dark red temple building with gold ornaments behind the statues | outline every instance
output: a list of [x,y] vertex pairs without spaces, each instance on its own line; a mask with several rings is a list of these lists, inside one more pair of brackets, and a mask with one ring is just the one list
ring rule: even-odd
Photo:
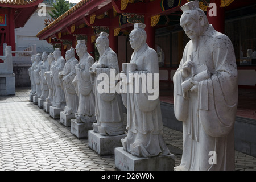
[[[175,121],[175,116],[170,110],[173,109],[172,76],[189,41],[180,26],[180,7],[188,1],[190,0],[81,0],[38,32],[37,36],[40,40],[58,44],[63,56],[69,48],[75,48],[77,40],[84,39],[88,52],[98,60],[95,40],[101,31],[105,31],[109,34],[110,47],[117,53],[119,68],[122,70],[122,63],[129,63],[133,53],[129,43],[133,24],[146,24],[147,44],[154,48],[159,56],[163,123],[172,129],[182,130],[181,122]],[[233,43],[240,88],[237,115],[249,119],[246,121],[254,121],[255,128],[256,1],[199,1],[209,23],[217,31],[229,36]],[[242,108],[247,114],[242,112]],[[238,117],[236,121],[239,119],[241,118]],[[244,127],[241,123],[237,126]],[[256,155],[256,142],[250,145],[250,141],[246,141],[247,146],[244,147],[243,141],[245,139],[236,135],[237,150],[243,146],[240,151],[246,150],[243,152]]]

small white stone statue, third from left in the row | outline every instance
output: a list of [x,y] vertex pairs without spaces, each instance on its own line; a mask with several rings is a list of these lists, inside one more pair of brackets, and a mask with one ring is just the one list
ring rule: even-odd
[[41,77],[41,90],[42,90],[40,99],[43,101],[46,101],[46,98],[48,97],[48,94],[49,94],[49,88],[46,82],[46,78],[44,77],[44,73],[49,71],[50,69],[50,65],[48,63],[47,57],[48,57],[48,53],[43,52],[42,54],[43,64],[41,65],[41,71],[39,72],[39,75]]

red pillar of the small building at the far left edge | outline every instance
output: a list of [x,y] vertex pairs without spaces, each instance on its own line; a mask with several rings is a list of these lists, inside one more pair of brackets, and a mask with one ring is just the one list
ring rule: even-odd
[[[9,27],[9,32],[7,35],[9,35],[9,42],[7,42],[7,46],[11,46],[11,50],[15,51],[15,24],[14,24],[14,9],[10,8],[9,9],[9,14],[8,14],[8,24],[7,26]],[[15,56],[15,53],[13,53],[13,56]]]

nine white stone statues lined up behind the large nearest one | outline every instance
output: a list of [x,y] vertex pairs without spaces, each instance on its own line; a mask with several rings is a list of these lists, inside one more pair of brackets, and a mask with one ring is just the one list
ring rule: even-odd
[[[137,67],[137,71],[133,73],[157,74],[157,54],[154,49],[147,46],[144,28],[144,24],[134,24],[134,30],[130,35],[130,42],[134,48],[131,63],[135,63]],[[66,52],[65,59],[58,48],[48,56],[46,52],[42,57],[39,54],[32,56],[31,93],[35,92],[35,95],[46,102],[51,102],[54,107],[63,107],[65,114],[75,114],[77,122],[93,122],[93,131],[96,133],[121,135],[125,133],[121,97],[117,92],[98,92],[102,82],[99,78],[102,74],[111,77],[114,70],[114,77],[118,75],[117,55],[109,47],[108,34],[105,32],[101,32],[97,38],[96,47],[100,53],[100,58],[96,62],[87,52],[84,40],[78,40],[76,46],[80,61],[75,58],[74,48]],[[121,77],[126,74],[122,71]],[[122,82],[123,85],[131,86],[123,80]],[[114,87],[117,83],[115,80]],[[113,84],[109,81],[107,85],[111,89]],[[128,134],[122,139],[123,149],[135,156],[168,155],[169,150],[162,137],[159,97],[156,100],[148,100],[147,93],[122,93],[122,98],[128,113]]]

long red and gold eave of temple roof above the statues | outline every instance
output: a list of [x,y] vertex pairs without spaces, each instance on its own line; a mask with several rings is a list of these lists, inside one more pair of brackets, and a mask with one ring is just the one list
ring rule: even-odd
[[[161,5],[165,1],[167,0],[143,0],[139,2],[132,0],[81,0],[77,5],[59,16],[59,18],[49,23],[43,30],[38,32],[36,36],[38,36],[40,40],[44,40],[55,37],[59,32],[64,33],[68,31],[69,34],[79,34],[78,32],[81,31],[76,27],[82,22],[85,23],[89,29],[93,28],[95,34],[95,27],[121,28],[123,31],[132,26],[130,22],[126,24],[120,24],[119,22],[119,17],[125,16],[127,13],[151,18],[151,26],[155,26],[160,16],[179,11],[180,6],[187,2],[187,0],[175,0],[172,7],[163,10]],[[127,3],[127,5],[122,7],[122,3]],[[104,18],[102,14],[108,13],[109,10],[113,10],[113,15],[111,18]],[[116,33],[118,32],[117,30]],[[87,28],[86,32],[84,31],[82,34],[90,35]]]

